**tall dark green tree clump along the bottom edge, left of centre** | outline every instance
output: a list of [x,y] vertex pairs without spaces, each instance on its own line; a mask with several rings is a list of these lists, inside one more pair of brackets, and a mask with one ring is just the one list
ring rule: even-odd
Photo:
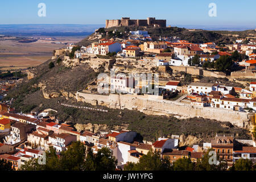
[[20,167],[24,171],[113,171],[117,160],[108,148],[102,148],[93,154],[86,150],[81,142],[73,142],[67,151],[56,154],[53,147],[46,152],[46,164],[38,164],[38,159],[31,159]]

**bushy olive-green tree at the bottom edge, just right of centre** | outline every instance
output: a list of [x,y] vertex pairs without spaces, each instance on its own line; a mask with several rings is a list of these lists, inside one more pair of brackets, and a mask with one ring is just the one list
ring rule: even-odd
[[166,171],[171,170],[171,163],[168,157],[160,159],[160,155],[150,150],[147,155],[139,158],[138,163],[127,163],[124,170],[132,171]]

